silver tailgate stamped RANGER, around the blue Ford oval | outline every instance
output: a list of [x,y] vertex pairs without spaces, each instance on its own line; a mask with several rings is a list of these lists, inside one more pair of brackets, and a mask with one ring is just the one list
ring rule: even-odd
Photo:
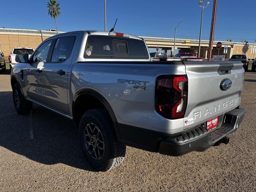
[[[206,122],[240,105],[244,69],[240,61],[183,62],[188,76],[184,129]],[[231,80],[228,90],[222,83]]]

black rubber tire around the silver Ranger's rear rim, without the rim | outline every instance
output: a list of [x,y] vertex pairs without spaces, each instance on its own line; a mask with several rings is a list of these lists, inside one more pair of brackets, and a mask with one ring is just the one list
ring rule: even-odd
[[[88,124],[95,124],[104,139],[104,152],[102,158],[99,160],[93,158],[86,148],[84,132]],[[98,108],[86,111],[80,120],[78,133],[84,156],[95,170],[111,170],[119,166],[124,160],[126,146],[118,142],[112,121],[105,109]]]

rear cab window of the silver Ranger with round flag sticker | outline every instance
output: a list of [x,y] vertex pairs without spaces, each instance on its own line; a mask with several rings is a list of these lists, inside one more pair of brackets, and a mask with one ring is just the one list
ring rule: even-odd
[[148,49],[143,40],[89,35],[84,58],[98,59],[148,59]]

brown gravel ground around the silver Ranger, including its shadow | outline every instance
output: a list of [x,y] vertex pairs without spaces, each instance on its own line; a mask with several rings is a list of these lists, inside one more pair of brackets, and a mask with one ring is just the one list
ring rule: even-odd
[[256,73],[246,73],[247,112],[228,145],[180,157],[128,147],[109,172],[86,162],[72,120],[36,105],[18,115],[8,73],[0,72],[0,191],[256,191]]

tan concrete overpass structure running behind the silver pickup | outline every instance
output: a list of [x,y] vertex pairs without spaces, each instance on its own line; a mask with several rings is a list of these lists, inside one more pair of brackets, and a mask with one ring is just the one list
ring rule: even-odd
[[[63,33],[63,32],[59,32]],[[46,38],[56,35],[56,32],[47,30],[29,30],[29,29],[10,29],[0,28],[0,51],[4,52],[5,57],[8,57],[14,47],[31,47],[36,48]],[[162,48],[162,51],[167,52],[174,46],[174,38],[161,38],[161,37],[146,37],[142,36],[146,41],[149,48]],[[218,50],[214,41],[212,55],[217,55]],[[222,48],[220,49],[220,55],[224,55],[224,46],[228,46],[228,53],[225,58],[230,58],[232,54],[246,54],[247,58],[254,58],[254,54],[251,54],[252,46],[256,44],[243,44],[241,42],[222,42]],[[199,40],[193,39],[176,39],[176,48],[179,52],[192,52],[198,50]],[[209,41],[201,40],[201,53],[200,57],[207,58]]]

